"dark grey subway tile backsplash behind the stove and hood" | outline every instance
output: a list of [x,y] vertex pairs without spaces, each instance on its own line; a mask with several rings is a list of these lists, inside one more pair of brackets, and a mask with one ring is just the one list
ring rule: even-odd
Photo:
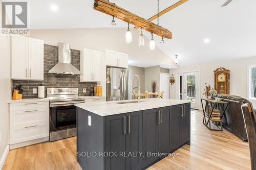
[[[33,94],[33,88],[43,85],[45,88],[78,88],[79,96],[90,95],[90,90],[93,89],[96,83],[80,82],[79,76],[63,77],[58,75],[48,75],[48,71],[58,63],[58,46],[44,44],[44,81],[31,81],[31,80],[13,80],[12,86],[22,84],[24,86],[23,99],[37,98],[37,94]],[[71,50],[71,64],[80,70],[80,51]],[[83,93],[83,88],[87,92]],[[45,89],[46,96],[46,89]]]

